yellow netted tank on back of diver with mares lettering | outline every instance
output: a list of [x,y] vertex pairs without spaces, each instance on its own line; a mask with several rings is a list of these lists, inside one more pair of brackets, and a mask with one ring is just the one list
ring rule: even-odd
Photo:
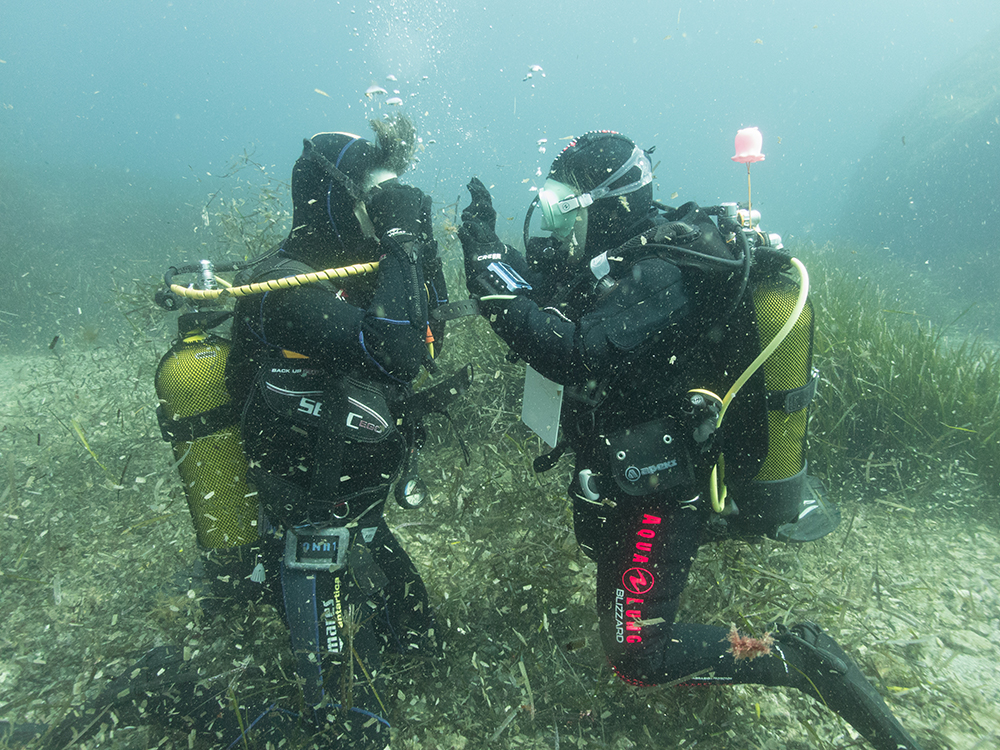
[[156,370],[157,414],[184,483],[198,543],[235,547],[257,539],[257,493],[247,483],[239,413],[226,390],[228,340],[193,331]]

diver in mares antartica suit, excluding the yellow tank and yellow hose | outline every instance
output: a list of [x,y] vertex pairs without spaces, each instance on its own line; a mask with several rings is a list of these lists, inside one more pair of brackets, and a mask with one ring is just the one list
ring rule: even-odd
[[304,702],[333,743],[324,746],[365,749],[389,741],[382,653],[437,650],[426,589],[383,508],[394,482],[397,496],[414,486],[422,415],[407,399],[443,340],[430,309],[446,300],[431,200],[398,180],[415,129],[404,117],[371,124],[377,143],[348,133],[305,141],[291,234],[237,279],[378,260],[377,275],[237,303],[226,380],[243,405],[264,520],[257,543],[218,555],[230,595],[266,595],[280,580]]

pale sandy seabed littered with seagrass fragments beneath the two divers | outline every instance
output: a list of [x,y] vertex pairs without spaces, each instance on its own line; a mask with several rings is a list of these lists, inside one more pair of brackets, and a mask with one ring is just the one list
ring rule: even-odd
[[[287,680],[276,612],[210,615],[177,583],[198,552],[154,415],[166,340],[64,346],[0,360],[0,719],[56,722],[160,643],[228,675],[234,693],[254,687],[239,683],[247,659]],[[434,422],[432,499],[388,511],[444,646],[433,663],[387,665],[393,748],[865,747],[790,690],[639,690],[611,676],[593,564],[563,492],[568,464],[533,473],[541,446],[508,406],[510,380],[480,375],[459,410],[471,463]],[[927,750],[1000,746],[996,499],[959,466],[933,489],[904,489],[883,468],[833,490],[843,522],[819,542],[705,545],[681,617],[761,631],[815,620]],[[125,726],[87,746],[189,743],[208,746]]]

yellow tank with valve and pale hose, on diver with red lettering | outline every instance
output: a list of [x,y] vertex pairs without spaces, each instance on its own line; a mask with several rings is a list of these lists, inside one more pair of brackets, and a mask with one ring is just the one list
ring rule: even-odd
[[[734,460],[720,456],[712,472],[712,507],[725,516],[725,522],[716,525],[724,527],[727,536],[819,539],[836,528],[840,511],[827,499],[823,483],[808,474],[805,457],[809,404],[819,382],[812,366],[815,321],[809,274],[801,261],[784,251],[779,235],[760,230],[757,212],[723,204],[717,215],[727,242],[744,248],[744,283],[750,291],[746,306],[752,308],[747,312],[758,352],[722,399],[719,424],[755,373],[762,371],[763,382],[758,380],[742,399],[741,416],[730,432],[737,441],[731,446]],[[737,347],[748,340],[739,338],[745,332],[736,335]],[[760,450],[744,449],[747,441]]]

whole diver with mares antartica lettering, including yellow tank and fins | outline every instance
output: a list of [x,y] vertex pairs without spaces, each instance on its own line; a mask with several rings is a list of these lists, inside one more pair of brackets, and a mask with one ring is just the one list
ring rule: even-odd
[[[420,504],[423,418],[443,412],[472,373],[411,388],[440,350],[435,309],[447,293],[430,198],[398,180],[415,128],[405,117],[371,124],[377,143],[339,132],[305,140],[291,233],[233,286],[215,289],[205,264],[201,290],[170,287],[238,301],[232,313],[181,316],[157,371],[161,428],[206,577],[219,598],[283,611],[295,679],[234,705],[225,680],[157,647],[47,747],[93,735],[114,713],[116,725],[164,724],[213,747],[381,750],[391,705],[383,655],[439,653],[427,591],[383,509],[393,486],[401,505]],[[206,333],[230,316],[231,344]]]

